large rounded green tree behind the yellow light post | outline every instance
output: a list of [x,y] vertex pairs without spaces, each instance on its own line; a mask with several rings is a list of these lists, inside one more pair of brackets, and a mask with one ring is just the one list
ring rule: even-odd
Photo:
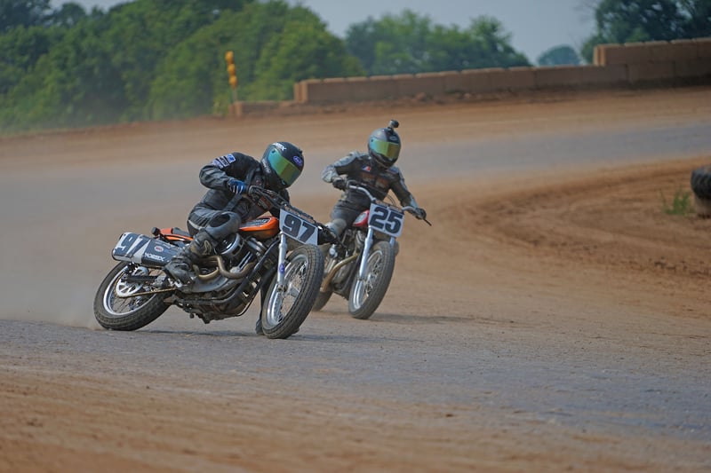
[[282,1],[249,4],[221,14],[172,48],[151,84],[149,116],[225,111],[230,100],[225,51],[235,53],[243,100],[290,99],[293,83],[310,77],[363,75],[342,40],[313,12]]

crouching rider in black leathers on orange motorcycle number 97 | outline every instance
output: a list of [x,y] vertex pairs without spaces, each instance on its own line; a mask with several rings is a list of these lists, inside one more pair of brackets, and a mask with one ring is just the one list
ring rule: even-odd
[[214,159],[200,169],[200,182],[207,193],[188,215],[188,231],[193,240],[165,265],[175,280],[188,283],[193,275],[192,265],[214,253],[218,243],[239,230],[246,220],[271,212],[278,217],[278,209],[247,191],[252,185],[279,193],[289,201],[286,188],[294,183],[304,169],[304,154],[299,146],[285,141],[267,147],[261,162],[242,153],[230,153]]

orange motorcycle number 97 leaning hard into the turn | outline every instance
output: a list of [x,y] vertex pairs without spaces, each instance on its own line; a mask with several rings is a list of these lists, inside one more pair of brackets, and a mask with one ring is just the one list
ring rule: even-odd
[[[179,228],[154,228],[152,235],[123,233],[108,272],[94,298],[101,327],[137,330],[175,305],[204,323],[239,317],[260,291],[260,323],[268,338],[288,338],[311,311],[323,280],[319,235],[332,233],[277,193],[251,186],[249,194],[279,208],[279,217],[242,224],[217,245],[215,255],[193,265],[195,278],[173,280],[163,271],[172,256],[192,240]],[[295,248],[294,248],[295,247]]]

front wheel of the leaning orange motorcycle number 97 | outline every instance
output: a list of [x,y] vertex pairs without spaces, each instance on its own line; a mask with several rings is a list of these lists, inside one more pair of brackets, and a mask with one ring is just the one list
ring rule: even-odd
[[296,248],[286,261],[284,288],[278,288],[275,274],[261,308],[261,327],[267,338],[288,338],[299,331],[324,279],[324,255],[314,245]]

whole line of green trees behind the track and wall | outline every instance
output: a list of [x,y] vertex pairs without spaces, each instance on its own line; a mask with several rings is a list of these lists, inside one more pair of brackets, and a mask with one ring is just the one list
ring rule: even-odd
[[[602,0],[597,30],[539,64],[576,64],[598,43],[711,35],[711,0]],[[303,79],[530,66],[491,17],[467,28],[409,10],[332,35],[282,0],[135,0],[104,12],[49,0],[0,0],[0,130],[223,114],[234,51],[242,100],[292,98]],[[588,54],[589,53],[589,54]]]

